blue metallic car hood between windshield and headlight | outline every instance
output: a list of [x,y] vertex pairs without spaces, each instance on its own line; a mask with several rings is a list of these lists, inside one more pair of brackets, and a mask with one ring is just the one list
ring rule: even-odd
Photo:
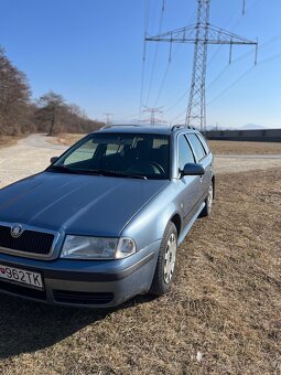
[[43,172],[0,190],[0,222],[119,236],[169,181]]

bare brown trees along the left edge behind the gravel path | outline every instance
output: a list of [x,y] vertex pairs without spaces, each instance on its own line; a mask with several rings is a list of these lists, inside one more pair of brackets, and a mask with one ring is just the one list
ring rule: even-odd
[[89,119],[75,104],[54,92],[31,99],[26,75],[19,71],[0,47],[0,136],[45,132],[89,132],[104,122]]

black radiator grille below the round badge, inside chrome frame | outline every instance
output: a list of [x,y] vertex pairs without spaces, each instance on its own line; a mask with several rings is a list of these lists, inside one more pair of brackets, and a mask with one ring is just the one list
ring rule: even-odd
[[14,238],[9,226],[0,225],[0,248],[47,255],[52,249],[54,237],[51,233],[24,229],[20,237]]

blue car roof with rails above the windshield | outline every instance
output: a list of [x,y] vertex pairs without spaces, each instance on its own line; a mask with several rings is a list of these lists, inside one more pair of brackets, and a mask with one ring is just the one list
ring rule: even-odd
[[187,132],[198,132],[196,129],[191,129],[186,126],[175,125],[173,127],[170,126],[143,126],[143,125],[111,125],[100,128],[96,133],[105,132],[105,133],[152,133],[152,135],[166,135],[170,136],[171,133],[175,133],[179,131],[187,131]]

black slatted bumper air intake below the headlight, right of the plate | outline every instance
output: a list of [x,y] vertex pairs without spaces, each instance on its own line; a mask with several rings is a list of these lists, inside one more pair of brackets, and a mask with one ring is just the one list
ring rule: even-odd
[[54,290],[54,300],[61,303],[107,304],[112,301],[111,292],[80,292],[71,290]]

